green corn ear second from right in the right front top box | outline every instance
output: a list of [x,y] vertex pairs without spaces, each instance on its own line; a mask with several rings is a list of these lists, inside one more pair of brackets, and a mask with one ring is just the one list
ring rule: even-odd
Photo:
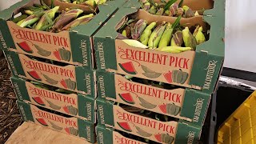
[[194,38],[194,36],[190,33],[190,29],[186,27],[184,30],[182,30],[183,34],[183,41],[185,43],[186,47],[191,47],[193,50],[195,50],[197,46],[197,41]]

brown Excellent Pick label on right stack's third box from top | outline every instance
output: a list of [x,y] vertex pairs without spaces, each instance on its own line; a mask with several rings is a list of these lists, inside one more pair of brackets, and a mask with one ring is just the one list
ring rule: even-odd
[[113,106],[114,128],[155,142],[174,142],[178,122],[161,122]]

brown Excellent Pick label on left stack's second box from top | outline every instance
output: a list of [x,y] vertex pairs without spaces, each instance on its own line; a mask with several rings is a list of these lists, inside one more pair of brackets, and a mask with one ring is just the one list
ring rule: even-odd
[[75,66],[56,66],[19,54],[26,78],[66,90],[77,90]]

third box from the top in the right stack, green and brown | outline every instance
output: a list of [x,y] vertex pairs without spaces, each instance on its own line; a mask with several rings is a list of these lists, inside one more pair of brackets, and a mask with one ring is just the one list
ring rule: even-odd
[[108,126],[154,142],[195,143],[200,138],[202,126],[183,120],[162,122],[138,114],[132,114],[114,105],[97,99],[98,125]]

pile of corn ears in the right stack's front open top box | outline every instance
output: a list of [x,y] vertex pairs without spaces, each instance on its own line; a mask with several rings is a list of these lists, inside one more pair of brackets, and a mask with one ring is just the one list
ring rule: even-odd
[[[118,38],[123,39],[130,46],[160,50],[169,53],[181,53],[195,50],[196,46],[206,42],[202,26],[183,27],[179,25],[181,16],[173,24],[162,22],[148,23],[144,19],[133,20],[125,18]],[[192,34],[193,33],[193,34]]]

